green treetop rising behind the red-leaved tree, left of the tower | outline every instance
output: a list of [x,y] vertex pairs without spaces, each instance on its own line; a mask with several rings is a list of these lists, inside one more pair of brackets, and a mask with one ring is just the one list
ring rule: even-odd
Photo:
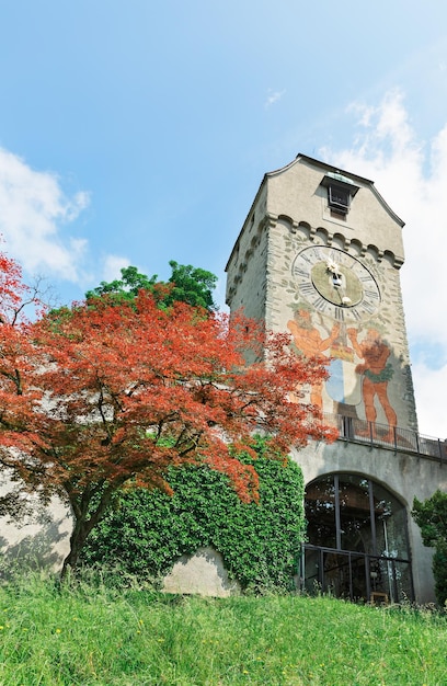
[[101,282],[96,288],[85,294],[85,298],[92,300],[107,295],[119,305],[123,301],[133,301],[142,289],[154,295],[163,307],[180,301],[193,307],[203,307],[209,311],[216,309],[213,290],[216,287],[217,276],[191,264],[177,264],[174,260],[171,260],[169,264],[172,273],[165,284],[158,281],[157,274],[149,277],[138,272],[136,266],[127,266],[121,271],[122,278],[108,283]]

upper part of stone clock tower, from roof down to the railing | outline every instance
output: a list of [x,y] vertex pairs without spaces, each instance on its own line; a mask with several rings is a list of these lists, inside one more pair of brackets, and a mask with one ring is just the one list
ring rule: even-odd
[[[264,176],[227,302],[331,358],[323,412],[416,431],[399,271],[403,221],[374,183],[299,155]],[[261,275],[262,274],[262,275]]]

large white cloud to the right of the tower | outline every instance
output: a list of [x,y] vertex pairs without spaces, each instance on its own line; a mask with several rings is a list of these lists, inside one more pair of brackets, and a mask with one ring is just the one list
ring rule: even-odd
[[[437,345],[447,357],[447,124],[424,142],[411,126],[401,92],[377,107],[355,103],[358,133],[348,150],[323,150],[322,159],[371,179],[405,221],[402,288],[410,341],[417,353]],[[422,433],[447,435],[447,366],[415,355],[413,378]]]

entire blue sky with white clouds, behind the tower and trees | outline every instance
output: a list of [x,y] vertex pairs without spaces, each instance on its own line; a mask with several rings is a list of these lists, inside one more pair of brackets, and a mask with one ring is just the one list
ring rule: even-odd
[[69,302],[135,264],[219,277],[266,171],[373,179],[406,222],[422,433],[445,436],[447,5],[5,0],[0,232]]

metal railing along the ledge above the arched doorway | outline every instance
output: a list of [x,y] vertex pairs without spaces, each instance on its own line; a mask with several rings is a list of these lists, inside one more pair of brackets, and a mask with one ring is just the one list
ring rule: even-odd
[[447,464],[447,439],[442,441],[433,436],[424,436],[410,428],[377,424],[342,414],[324,413],[323,418],[326,424],[337,428],[339,441],[388,448],[396,453],[412,453]]

